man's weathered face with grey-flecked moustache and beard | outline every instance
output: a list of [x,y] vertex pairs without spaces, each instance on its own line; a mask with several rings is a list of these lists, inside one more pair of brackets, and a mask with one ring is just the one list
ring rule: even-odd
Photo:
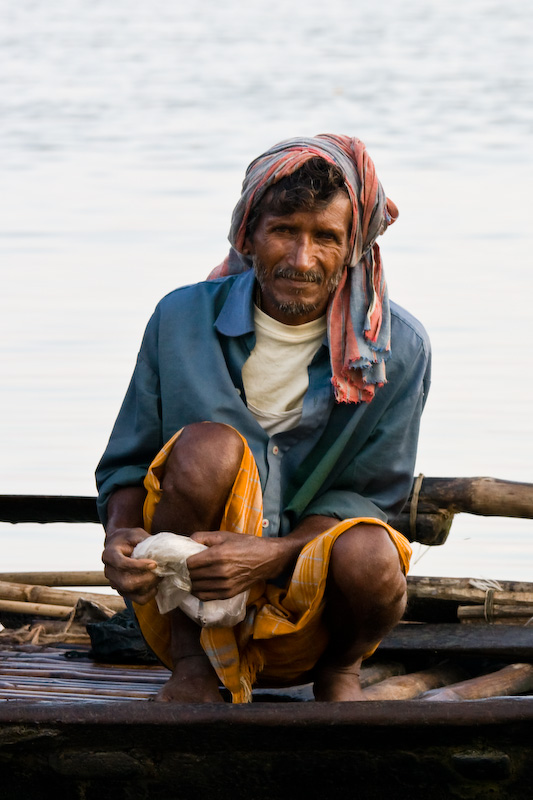
[[261,215],[245,247],[253,257],[266,314],[286,325],[301,325],[325,313],[348,259],[351,221],[351,203],[343,191],[323,208]]

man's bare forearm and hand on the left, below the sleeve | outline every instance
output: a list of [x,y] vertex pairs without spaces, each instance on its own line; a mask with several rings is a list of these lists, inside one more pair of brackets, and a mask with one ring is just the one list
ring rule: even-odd
[[147,603],[157,592],[159,578],[154,574],[155,561],[134,559],[135,545],[150,534],[143,528],[142,486],[126,486],[111,495],[102,561],[113,588],[137,603]]

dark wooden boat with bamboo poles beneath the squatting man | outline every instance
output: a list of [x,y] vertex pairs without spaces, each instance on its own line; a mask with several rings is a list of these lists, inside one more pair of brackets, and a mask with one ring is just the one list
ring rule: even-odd
[[[395,522],[417,540],[444,541],[459,510],[533,518],[533,485],[418,484]],[[0,519],[95,521],[94,498],[4,497]],[[92,573],[0,575],[0,595],[13,595],[9,584],[26,598],[6,602],[33,603],[23,619],[34,640],[0,634],[2,800],[531,797],[533,584],[410,578],[406,620],[364,667],[372,702],[309,702],[310,687],[294,687],[257,690],[248,706],[197,706],[146,702],[163,667],[90,656],[87,601],[63,586],[100,583]],[[93,613],[114,611],[92,594]],[[59,618],[37,635],[54,604]],[[0,609],[0,619],[16,627],[19,613]]]

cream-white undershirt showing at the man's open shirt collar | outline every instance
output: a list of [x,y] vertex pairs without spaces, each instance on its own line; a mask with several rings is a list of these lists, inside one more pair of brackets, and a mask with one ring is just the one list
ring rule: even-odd
[[309,386],[307,368],[327,328],[326,316],[284,325],[254,307],[255,347],[242,368],[246,403],[270,436],[294,428]]

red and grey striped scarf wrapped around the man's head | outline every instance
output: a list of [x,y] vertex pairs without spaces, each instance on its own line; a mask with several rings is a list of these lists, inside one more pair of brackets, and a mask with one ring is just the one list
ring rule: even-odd
[[398,209],[385,196],[360,139],[333,134],[287,139],[252,161],[233,211],[231,250],[209,279],[252,267],[252,259],[242,252],[251,209],[270,186],[317,156],[342,170],[352,203],[347,269],[328,305],[331,380],[338,403],[368,403],[386,382],[390,355],[389,299],[376,239],[396,220]]

